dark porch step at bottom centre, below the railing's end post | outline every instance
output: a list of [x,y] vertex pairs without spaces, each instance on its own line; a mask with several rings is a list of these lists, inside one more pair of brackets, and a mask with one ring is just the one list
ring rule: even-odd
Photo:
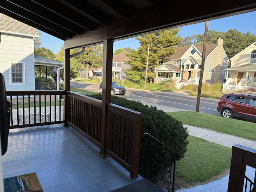
[[149,180],[143,178],[139,181],[133,182],[132,184],[126,185],[122,188],[113,190],[112,192],[164,192],[166,190],[162,190],[158,188],[158,186],[154,185]]

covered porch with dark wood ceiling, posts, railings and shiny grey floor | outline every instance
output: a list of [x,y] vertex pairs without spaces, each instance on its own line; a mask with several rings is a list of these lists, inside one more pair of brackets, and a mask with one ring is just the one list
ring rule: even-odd
[[[5,159],[6,165],[4,166],[7,167],[4,170],[4,175],[10,176],[12,174],[13,176],[14,171],[17,171],[19,174],[19,171],[28,173],[30,170],[32,171],[32,168],[33,170],[34,168],[40,169],[42,172],[42,174],[39,174],[40,178],[42,178],[42,182],[46,184],[46,188],[49,191],[62,191],[54,188],[57,186],[67,192],[84,191],[85,188],[101,191],[100,187],[103,186],[106,186],[108,190],[112,190],[114,189],[112,182],[117,177],[126,177],[127,172],[125,170],[129,172],[130,180],[139,178],[138,162],[142,114],[111,103],[113,43],[114,41],[129,37],[256,10],[256,4],[253,1],[234,1],[232,4],[223,4],[223,1],[217,0],[215,3],[222,6],[212,6],[206,10],[205,5],[201,2],[170,1],[159,3],[153,0],[128,0],[114,3],[106,0],[83,2],[75,0],[54,0],[52,2],[38,0],[25,2],[17,0],[1,1],[0,12],[3,14],[64,40],[65,61],[63,91],[7,91],[7,96],[13,99],[11,99],[11,106],[19,102],[20,105],[17,105],[15,109],[11,109],[12,119],[10,128],[12,130],[10,130],[10,135],[18,139],[15,141],[10,139],[9,141],[15,147],[14,149],[8,149],[10,156]],[[186,14],[180,15],[180,8],[187,10]],[[177,16],[170,17],[170,10],[174,10],[173,14]],[[194,10],[202,11],[195,12]],[[70,49],[97,44],[103,44],[104,47],[102,101],[70,92]],[[61,99],[59,100],[58,98]],[[26,99],[28,99],[28,107],[25,107],[24,104]],[[36,105],[36,102],[30,102],[33,99],[38,99],[39,106]],[[42,104],[41,101],[47,99],[50,101],[49,105]],[[31,107],[32,111],[30,110]],[[28,114],[25,113],[25,108],[28,108]],[[49,113],[47,113],[47,108],[50,109]],[[14,110],[17,112],[15,115]],[[63,116],[58,116],[57,112]],[[34,114],[34,116],[31,116],[31,114]],[[46,115],[48,114],[50,120],[46,121]],[[22,123],[18,120],[20,116],[23,117],[21,120]],[[16,118],[16,123],[14,123],[14,117]],[[32,121],[33,118],[34,121]],[[37,119],[38,122],[36,121]],[[103,158],[95,162],[93,159],[90,159],[90,164],[95,163],[93,166],[100,169],[98,171],[100,173],[93,173],[96,170],[92,169],[92,167],[90,167],[91,169],[88,168],[85,170],[80,169],[81,166],[72,166],[78,160],[83,160],[84,164],[86,164],[88,159],[84,156],[84,153],[92,148],[88,146],[76,146],[76,148],[81,149],[84,153],[80,153],[80,150],[74,150],[74,145],[82,144],[84,140],[78,136],[75,138],[78,141],[80,140],[80,142],[72,142],[71,135],[76,133],[71,129],[67,134],[66,131],[69,128],[68,130],[58,129],[57,132],[57,128],[53,126],[54,124],[65,124],[66,126],[72,127],[72,129],[76,130],[98,147],[99,154]],[[47,126],[50,132],[44,134],[40,132],[40,129],[33,131],[34,129],[30,127],[34,126]],[[16,128],[18,128],[18,131],[16,131]],[[28,129],[31,129],[31,132],[26,131]],[[41,129],[43,130],[44,128]],[[38,132],[39,134],[37,134]],[[19,133],[22,134],[20,135]],[[63,136],[61,141],[55,140],[55,137],[60,138],[60,135]],[[39,140],[37,140],[37,136]],[[40,145],[35,148],[34,145],[30,145],[30,143],[35,144],[30,139],[36,140]],[[18,153],[16,148],[18,148],[20,142],[24,142],[25,146],[27,145],[33,150]],[[61,146],[63,145],[68,146],[68,148],[62,148]],[[42,150],[43,146],[46,146],[44,150]],[[55,146],[59,146],[59,148],[54,148]],[[22,147],[20,150],[22,150]],[[8,153],[5,154],[6,157]],[[38,157],[42,153],[46,153],[43,154],[44,156],[41,156],[41,159],[43,161],[45,160],[44,166],[31,160],[35,153]],[[16,156],[16,154],[20,156]],[[72,158],[70,158],[71,154],[74,155]],[[47,156],[50,158],[48,162],[47,158],[44,158]],[[55,158],[52,156],[55,156]],[[110,161],[104,158],[106,156],[115,160],[125,170],[112,166],[112,162],[107,166],[108,168],[104,169],[106,165],[103,166],[102,161]],[[62,164],[64,158],[65,163]],[[20,159],[21,162],[17,159]],[[31,164],[29,163],[29,166],[24,166],[26,161]],[[68,163],[66,164],[66,162]],[[55,169],[53,165],[58,169]],[[244,165],[240,164],[239,166],[242,167]],[[111,171],[116,172],[116,174],[110,172],[112,177],[104,173],[110,171],[110,167]],[[64,174],[65,170],[68,175]],[[48,174],[50,171],[54,173],[52,174],[52,178]],[[86,176],[85,173],[90,173],[90,176]],[[234,176],[240,176],[242,173],[235,172]],[[55,176],[57,176],[57,179]],[[102,178],[103,176],[106,176],[106,178]],[[65,181],[68,185],[64,187],[58,185],[58,183],[65,180],[65,177],[68,178]],[[243,177],[244,175],[239,177],[239,182],[232,180],[230,185],[234,186],[235,189],[240,189],[243,183],[241,183],[241,178]],[[49,180],[44,180],[44,178]],[[77,181],[79,178],[80,180]],[[54,182],[51,182],[50,179],[53,179]],[[88,185],[87,180],[91,182],[91,185]],[[124,180],[116,180],[116,182],[120,181],[121,184],[124,183]],[[73,183],[77,184],[78,188],[73,190]],[[51,188],[54,188],[54,190],[51,190]],[[234,192],[236,190],[230,191]]]

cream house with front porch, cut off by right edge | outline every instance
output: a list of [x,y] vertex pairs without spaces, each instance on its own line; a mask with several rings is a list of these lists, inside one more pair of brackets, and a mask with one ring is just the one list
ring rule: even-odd
[[230,58],[223,91],[256,90],[256,42]]

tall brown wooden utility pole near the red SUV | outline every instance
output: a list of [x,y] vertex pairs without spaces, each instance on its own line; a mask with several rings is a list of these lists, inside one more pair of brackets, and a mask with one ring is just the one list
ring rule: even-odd
[[204,61],[205,61],[205,55],[206,55],[205,51],[206,51],[206,42],[207,42],[207,33],[208,33],[208,23],[209,23],[209,21],[205,22],[205,29],[204,29],[204,44],[203,44],[202,64],[201,64],[200,78],[199,78],[199,84],[198,84],[198,93],[197,93],[197,100],[196,100],[196,112],[199,112],[199,106],[200,106],[202,81],[203,81],[203,75],[204,75]]

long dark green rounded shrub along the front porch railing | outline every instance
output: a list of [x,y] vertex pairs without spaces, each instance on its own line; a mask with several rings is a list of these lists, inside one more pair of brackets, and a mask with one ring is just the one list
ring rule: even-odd
[[[101,100],[101,94],[90,95]],[[182,122],[172,118],[154,106],[143,105],[140,102],[127,100],[122,97],[112,96],[111,102],[142,113],[141,144],[139,174],[144,176],[146,167],[146,146],[143,143],[143,133],[148,132],[178,154],[178,159],[183,158],[188,145],[188,130]]]

